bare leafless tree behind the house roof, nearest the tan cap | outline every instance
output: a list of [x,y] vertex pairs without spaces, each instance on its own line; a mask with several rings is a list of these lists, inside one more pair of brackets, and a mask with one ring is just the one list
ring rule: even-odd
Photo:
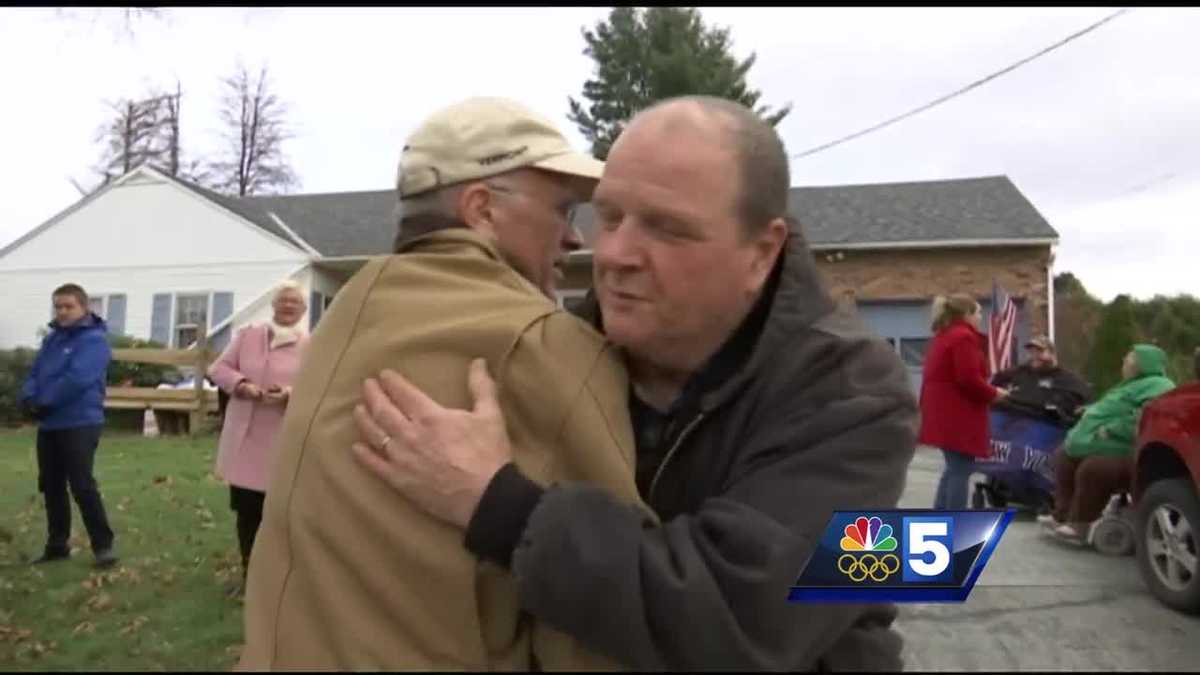
[[228,195],[270,195],[299,186],[283,156],[292,138],[284,123],[287,106],[268,83],[264,65],[253,78],[244,65],[222,80],[221,123],[228,145],[224,157],[209,163],[210,185]]

